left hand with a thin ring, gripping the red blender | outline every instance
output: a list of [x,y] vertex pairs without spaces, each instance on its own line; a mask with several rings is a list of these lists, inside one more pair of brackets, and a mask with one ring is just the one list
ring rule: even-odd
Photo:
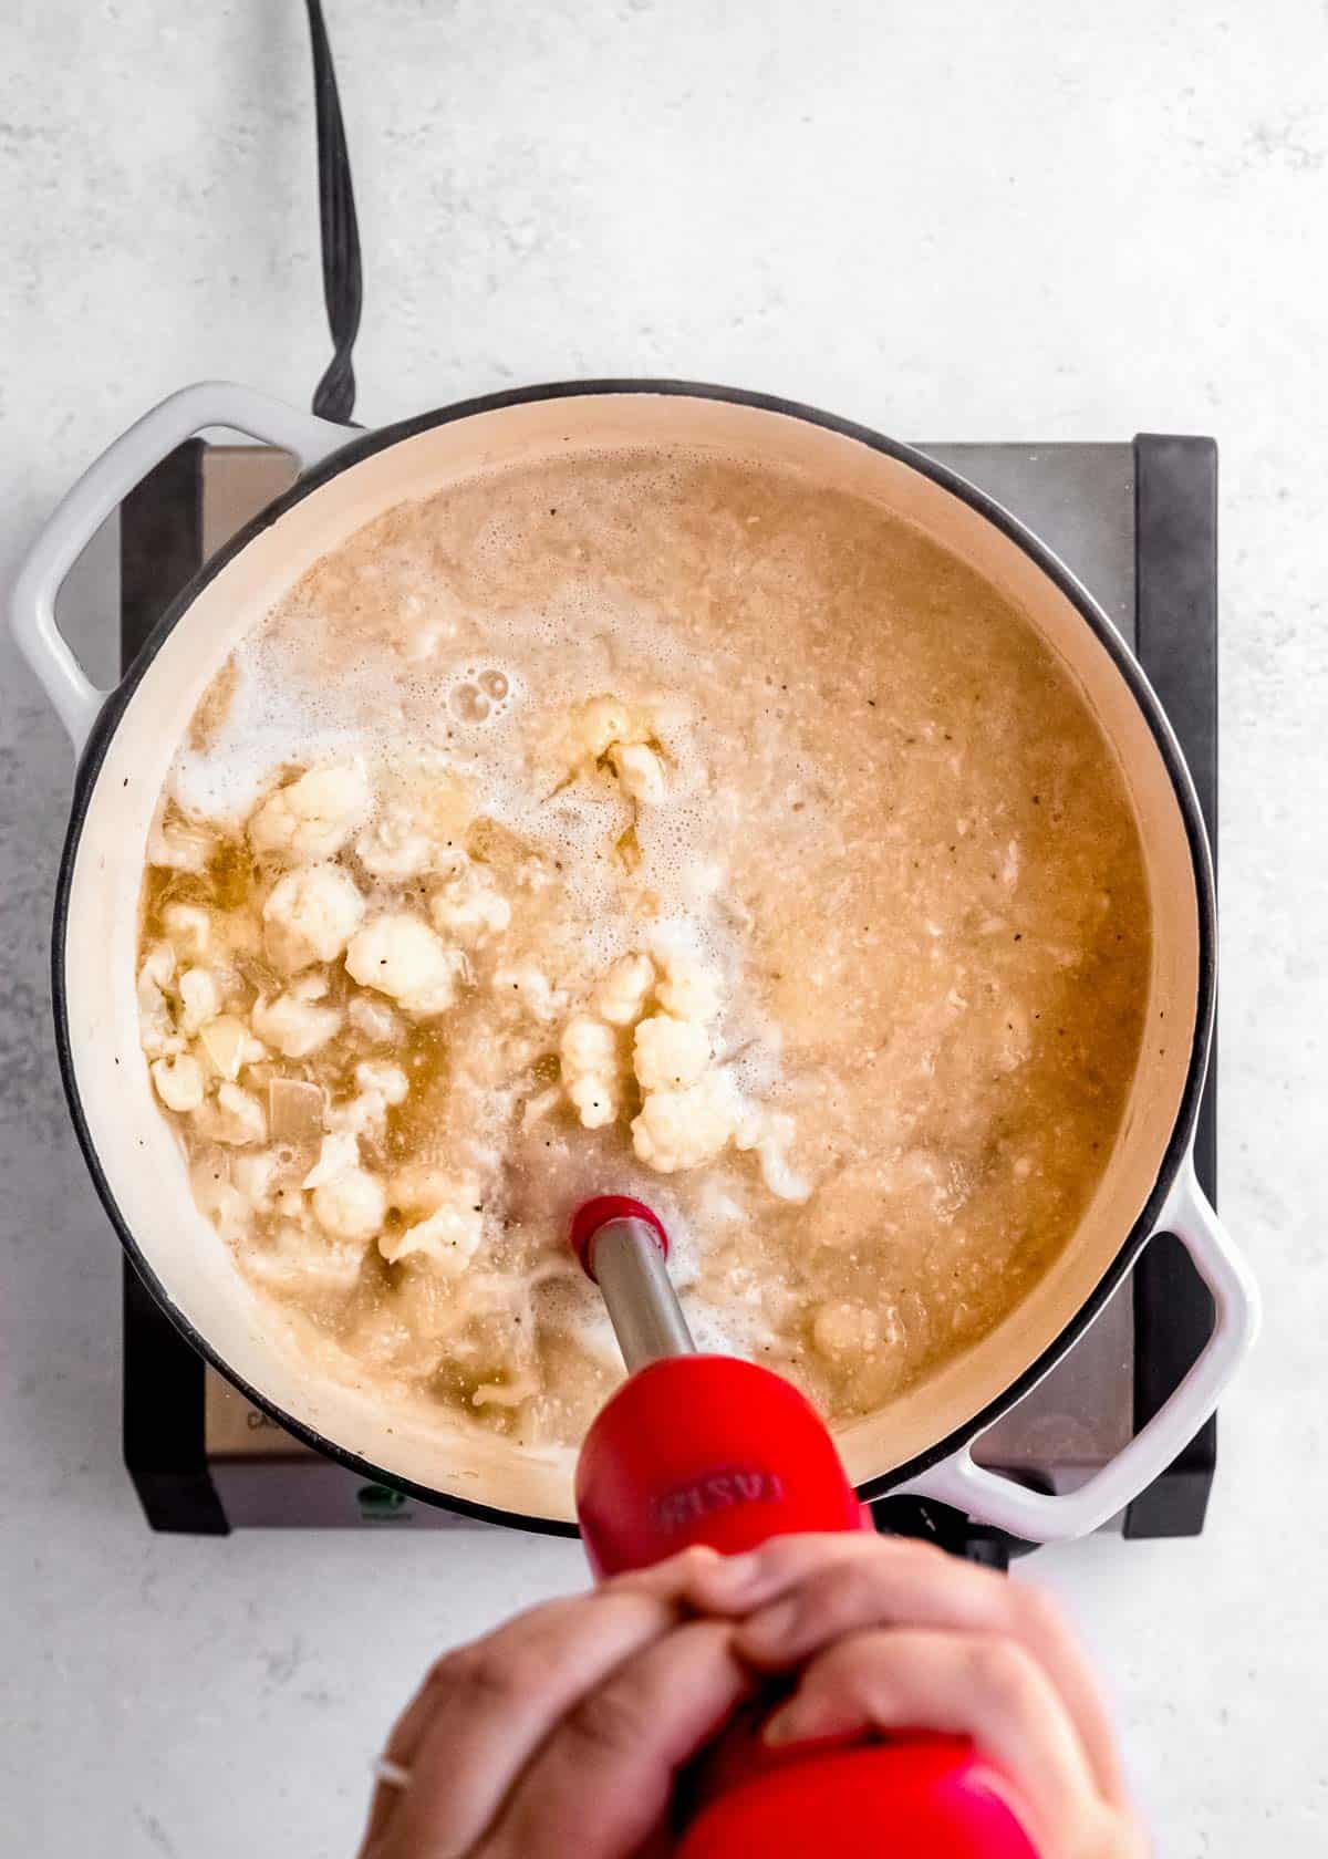
[[398,1720],[361,1859],[664,1852],[679,1772],[751,1694],[729,1619],[686,1595],[712,1550],[551,1601],[446,1653]]

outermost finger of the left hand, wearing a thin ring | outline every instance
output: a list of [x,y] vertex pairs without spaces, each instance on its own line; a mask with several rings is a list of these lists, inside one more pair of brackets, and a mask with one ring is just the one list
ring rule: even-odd
[[387,1746],[411,1783],[378,1790],[366,1852],[465,1852],[558,1720],[675,1619],[666,1597],[601,1591],[534,1608],[441,1658]]

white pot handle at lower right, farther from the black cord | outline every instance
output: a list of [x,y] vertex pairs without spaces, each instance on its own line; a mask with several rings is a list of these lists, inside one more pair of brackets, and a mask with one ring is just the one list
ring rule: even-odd
[[1155,1233],[1174,1233],[1213,1292],[1213,1335],[1175,1392],[1131,1443],[1077,1491],[1049,1495],[973,1461],[973,1443],[889,1496],[924,1496],[1029,1543],[1060,1543],[1099,1530],[1151,1485],[1194,1439],[1244,1359],[1259,1327],[1259,1292],[1194,1175],[1185,1166]]

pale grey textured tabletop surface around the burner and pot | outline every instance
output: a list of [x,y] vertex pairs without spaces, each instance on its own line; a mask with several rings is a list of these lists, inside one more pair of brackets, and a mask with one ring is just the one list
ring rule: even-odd
[[[1036,1569],[1101,1647],[1159,1850],[1321,1853],[1322,6],[1068,0],[1055,28],[1021,0],[329,11],[363,418],[653,372],[900,433],[1222,442],[1222,1199],[1268,1324],[1207,1536]],[[160,394],[316,379],[301,13],[4,9],[0,574]],[[346,1853],[428,1656],[577,1580],[577,1552],[143,1532],[117,1459],[119,1264],[48,1037],[69,762],[7,641],[0,667],[6,1850]]]

